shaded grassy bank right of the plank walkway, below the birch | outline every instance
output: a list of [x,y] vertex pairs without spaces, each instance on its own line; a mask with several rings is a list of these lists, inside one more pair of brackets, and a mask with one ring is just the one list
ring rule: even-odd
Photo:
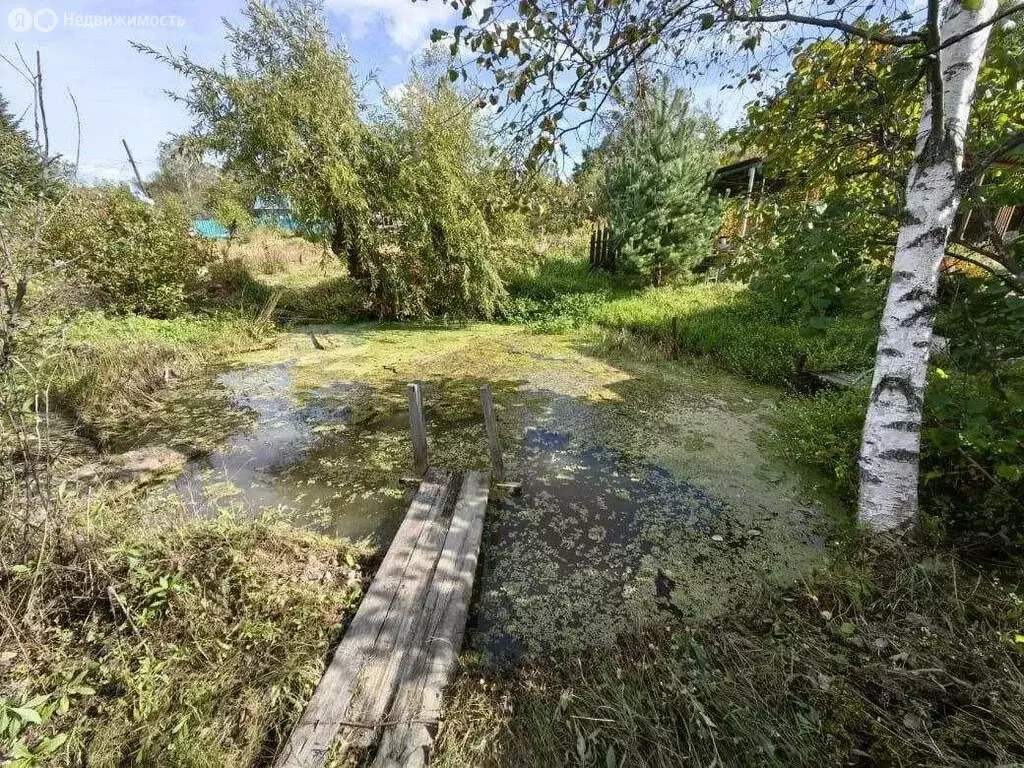
[[979,765],[1024,760],[1019,573],[902,545],[697,629],[467,670],[434,765]]

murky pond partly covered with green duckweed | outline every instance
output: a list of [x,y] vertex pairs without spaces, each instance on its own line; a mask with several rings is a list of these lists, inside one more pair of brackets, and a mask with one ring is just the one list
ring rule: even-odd
[[169,392],[131,442],[195,457],[155,493],[196,514],[280,509],[386,544],[409,501],[410,381],[424,385],[431,463],[454,469],[487,467],[478,388],[489,383],[506,473],[522,484],[487,511],[468,638],[482,653],[577,649],[714,615],[818,556],[828,500],[761,447],[777,392],[590,336],[284,334]]

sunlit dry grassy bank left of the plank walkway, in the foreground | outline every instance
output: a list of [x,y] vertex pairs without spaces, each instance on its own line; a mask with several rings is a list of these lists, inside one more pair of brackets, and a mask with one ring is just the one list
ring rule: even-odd
[[26,766],[265,762],[369,554],[272,520],[182,521],[130,490],[3,525],[0,753]]

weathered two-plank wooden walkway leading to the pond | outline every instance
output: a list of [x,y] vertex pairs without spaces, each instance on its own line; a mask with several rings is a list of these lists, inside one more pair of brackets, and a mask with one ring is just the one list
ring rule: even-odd
[[490,476],[430,469],[278,768],[379,741],[375,766],[426,765],[462,647]]

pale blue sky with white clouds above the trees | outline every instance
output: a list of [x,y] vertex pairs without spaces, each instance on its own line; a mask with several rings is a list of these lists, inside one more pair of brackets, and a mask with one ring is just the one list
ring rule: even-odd
[[[410,62],[428,43],[431,30],[454,24],[441,0],[326,0],[332,34],[355,60],[357,82],[373,77],[368,99],[381,88],[400,88]],[[185,131],[189,117],[166,91],[185,83],[168,67],[137,53],[130,41],[171,48],[213,63],[225,51],[222,18],[237,19],[242,0],[0,0],[0,53],[17,60],[38,50],[51,146],[73,159],[78,129],[69,92],[81,115],[84,181],[131,176],[121,139],[128,141],[143,177],[156,169],[158,144]],[[101,22],[100,18],[101,17]],[[97,22],[100,22],[97,24]],[[17,46],[17,47],[15,47]],[[697,101],[733,123],[744,98],[720,92],[716,82],[694,83]],[[32,90],[0,60],[0,93],[15,116],[32,123]]]

